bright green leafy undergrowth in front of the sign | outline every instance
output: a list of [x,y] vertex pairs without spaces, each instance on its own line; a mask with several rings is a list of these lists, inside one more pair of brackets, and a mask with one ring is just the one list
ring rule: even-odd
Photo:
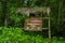
[[25,33],[23,28],[0,27],[0,43],[64,43],[64,39],[53,38],[51,40],[42,38],[40,34]]

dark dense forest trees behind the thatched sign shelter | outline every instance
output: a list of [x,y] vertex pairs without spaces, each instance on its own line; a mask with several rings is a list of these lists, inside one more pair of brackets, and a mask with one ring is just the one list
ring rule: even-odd
[[17,9],[34,6],[50,6],[52,37],[65,37],[65,0],[0,0],[0,27],[22,28],[25,15]]

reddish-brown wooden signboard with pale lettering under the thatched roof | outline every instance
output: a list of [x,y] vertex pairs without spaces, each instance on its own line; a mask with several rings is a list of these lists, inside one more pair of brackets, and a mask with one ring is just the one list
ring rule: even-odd
[[27,18],[25,20],[24,30],[41,31],[42,30],[42,19],[38,17]]

